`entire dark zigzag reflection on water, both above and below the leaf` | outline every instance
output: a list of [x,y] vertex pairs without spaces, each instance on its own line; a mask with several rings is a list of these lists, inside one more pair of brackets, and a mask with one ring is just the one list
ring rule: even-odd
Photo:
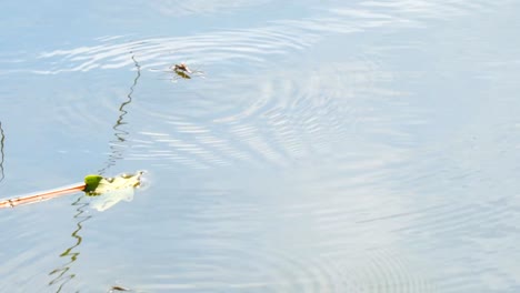
[[[132,52],[130,52],[130,53],[132,53]],[[120,114],[119,114],[118,119],[116,120],[114,125],[112,127],[112,129],[114,131],[114,133],[113,133],[114,139],[112,141],[110,141],[111,142],[110,143],[111,152],[109,154],[109,158],[108,158],[107,162],[104,163],[104,166],[99,170],[99,174],[103,174],[108,169],[113,166],[118,160],[122,159],[122,155],[123,155],[123,151],[117,146],[117,143],[124,142],[127,140],[126,137],[129,134],[128,131],[122,129],[122,125],[127,124],[127,122],[124,122],[124,115],[128,113],[127,107],[132,102],[132,94],[133,94],[134,88],[136,88],[136,85],[138,83],[139,78],[141,77],[141,67],[140,67],[140,64],[138,63],[138,61],[136,60],[136,57],[133,54],[132,54],[131,58],[132,58],[134,67],[137,69],[137,75],[133,79],[133,83],[130,87],[130,91],[127,94],[127,99],[119,107]],[[0,127],[1,127],[1,124],[0,124]],[[1,130],[1,128],[0,128],[0,130]],[[1,131],[1,135],[3,135],[3,131]],[[1,146],[2,146],[2,149],[1,149],[2,150],[2,159],[1,160],[2,161],[0,161],[0,162],[3,162],[3,139],[0,140],[0,142],[2,143],[1,144]],[[2,171],[2,174],[3,174],[3,169],[1,169],[0,171]],[[77,206],[77,209],[76,209],[77,213],[73,216],[73,219],[76,221],[76,230],[71,234],[71,236],[76,240],[76,242],[74,242],[73,245],[67,247],[60,254],[60,257],[67,257],[67,259],[69,259],[69,261],[67,261],[67,263],[64,263],[60,267],[57,267],[57,269],[52,270],[49,273],[50,276],[53,276],[53,279],[49,282],[49,286],[54,286],[54,285],[58,286],[58,289],[56,291],[57,293],[68,292],[68,291],[62,291],[64,285],[68,282],[70,282],[70,280],[76,277],[76,274],[70,272],[70,271],[71,271],[72,264],[78,260],[78,257],[80,255],[80,252],[78,251],[78,247],[81,245],[81,242],[83,240],[82,236],[80,235],[80,231],[83,228],[83,225],[82,225],[83,222],[86,222],[87,220],[92,218],[92,215],[83,215],[83,213],[87,212],[86,208],[89,205],[89,201],[87,199],[87,195],[82,194],[71,205]]]

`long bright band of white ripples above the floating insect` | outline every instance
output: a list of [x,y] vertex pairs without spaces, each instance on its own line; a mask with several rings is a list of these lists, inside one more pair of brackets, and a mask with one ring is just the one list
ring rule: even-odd
[[[381,7],[387,11],[381,11]],[[43,52],[40,59],[52,60],[53,65],[33,72],[59,73],[123,68],[131,65],[131,60],[126,57],[129,51],[138,54],[143,69],[171,65],[172,58],[219,67],[232,65],[238,61],[248,62],[249,65],[269,67],[269,60],[273,55],[286,55],[317,44],[323,33],[352,33],[376,28],[416,26],[413,23],[418,19],[430,13],[439,13],[436,14],[438,18],[444,18],[451,16],[452,11],[480,7],[486,7],[486,3],[457,8],[449,3],[367,1],[351,8],[329,9],[324,16],[302,20],[278,20],[274,24],[261,28],[119,43],[110,43],[119,41],[119,38],[106,38],[104,42],[98,46]]]

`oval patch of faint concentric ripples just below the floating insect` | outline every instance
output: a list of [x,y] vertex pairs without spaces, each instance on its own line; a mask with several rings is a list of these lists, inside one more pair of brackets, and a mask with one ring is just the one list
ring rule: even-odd
[[[161,122],[154,123],[153,130],[138,133],[139,142],[153,143],[133,148],[129,159],[171,158],[201,168],[231,161],[253,165],[263,161],[282,166],[298,159],[312,158],[314,153],[331,154],[331,143],[344,142],[359,128],[349,128],[352,121],[366,115],[363,107],[352,107],[351,95],[346,95],[346,90],[353,95],[373,81],[358,79],[352,82],[341,78],[351,74],[351,70],[338,68],[336,71],[302,73],[296,69],[286,72],[288,77],[284,79],[271,74],[248,79],[249,82],[242,80],[239,88],[250,89],[247,95],[232,89],[219,89],[221,92],[213,98],[216,91],[209,90],[212,83],[191,89],[189,95],[183,94],[182,99],[188,102],[192,99],[213,101],[211,107],[186,104],[184,101],[177,101],[177,107],[143,104],[137,111]],[[359,67],[354,70],[357,75],[369,74]],[[237,100],[219,103],[222,95],[230,95],[226,100]],[[347,103],[351,104],[347,107]],[[192,118],[190,113],[193,111],[197,117]],[[381,125],[386,122],[378,121]]]

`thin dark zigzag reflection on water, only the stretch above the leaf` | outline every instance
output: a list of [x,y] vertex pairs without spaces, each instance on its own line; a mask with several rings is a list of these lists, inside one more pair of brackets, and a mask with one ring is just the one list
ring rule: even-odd
[[133,84],[130,87],[129,93],[127,94],[127,100],[122,102],[121,105],[119,107],[120,114],[118,117],[118,120],[116,121],[116,124],[113,124],[112,127],[114,131],[113,132],[114,139],[109,142],[110,154],[109,154],[107,162],[104,163],[104,166],[98,171],[99,174],[104,174],[104,172],[111,166],[113,166],[116,162],[122,158],[122,154],[123,154],[123,149],[118,143],[124,142],[127,140],[126,137],[129,134],[128,131],[122,129],[122,125],[127,124],[127,122],[123,121],[124,115],[128,114],[128,111],[124,108],[132,102],[133,90],[138,83],[139,78],[141,77],[141,65],[139,65],[138,61],[136,60],[136,55],[133,54],[132,54],[132,61],[137,69],[137,75],[133,79]]

